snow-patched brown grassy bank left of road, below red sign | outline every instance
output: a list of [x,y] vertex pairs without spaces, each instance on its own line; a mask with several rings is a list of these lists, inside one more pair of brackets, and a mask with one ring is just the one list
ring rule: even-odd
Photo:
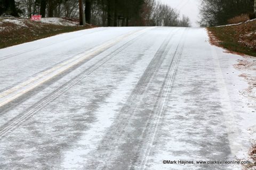
[[59,33],[92,28],[79,26],[73,19],[43,18],[41,21],[31,21],[12,16],[0,17],[0,48],[27,43]]

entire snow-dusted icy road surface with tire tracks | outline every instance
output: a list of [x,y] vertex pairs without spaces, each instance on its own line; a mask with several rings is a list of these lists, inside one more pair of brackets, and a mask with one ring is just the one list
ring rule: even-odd
[[250,147],[239,58],[199,28],[95,28],[1,49],[0,169],[241,169],[196,164]]

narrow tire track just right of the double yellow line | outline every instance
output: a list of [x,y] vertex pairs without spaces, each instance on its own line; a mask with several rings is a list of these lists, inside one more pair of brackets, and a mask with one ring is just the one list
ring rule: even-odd
[[97,70],[101,65],[105,64],[111,58],[116,56],[118,53],[122,52],[122,50],[131,46],[139,38],[141,38],[141,34],[129,40],[122,47],[119,47],[118,49],[114,50],[114,52],[110,53],[109,55],[107,55],[106,57],[102,58],[100,61],[98,61],[91,67],[89,67],[89,69],[86,69],[84,72],[77,75],[75,78],[63,84],[59,89],[53,91],[52,94],[44,97],[41,101],[38,101],[38,103],[31,106],[27,111],[15,116],[14,118],[12,118],[12,120],[2,125],[0,127],[0,140],[3,137],[5,137],[8,133],[18,128],[19,125],[21,125],[23,122],[28,120],[28,118],[30,118],[34,114],[36,114],[38,111],[44,108],[47,104],[51,103],[53,100],[57,99],[60,95],[65,93],[69,88],[74,86],[74,84],[76,84],[79,80],[85,78],[87,75],[90,75],[93,71]]

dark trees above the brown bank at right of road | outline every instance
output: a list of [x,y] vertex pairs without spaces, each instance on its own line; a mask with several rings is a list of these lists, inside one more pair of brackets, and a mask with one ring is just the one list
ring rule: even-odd
[[254,0],[204,0],[199,24],[203,27],[225,25],[229,19],[241,14],[253,17],[253,6]]

